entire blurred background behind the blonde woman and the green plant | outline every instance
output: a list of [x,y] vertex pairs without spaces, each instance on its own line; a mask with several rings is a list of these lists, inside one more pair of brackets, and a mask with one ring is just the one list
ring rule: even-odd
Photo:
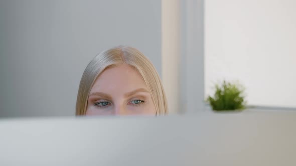
[[248,106],[296,110],[294,0],[0,0],[0,118],[73,116],[100,51],[129,45],[160,74],[169,113],[207,111],[239,80]]

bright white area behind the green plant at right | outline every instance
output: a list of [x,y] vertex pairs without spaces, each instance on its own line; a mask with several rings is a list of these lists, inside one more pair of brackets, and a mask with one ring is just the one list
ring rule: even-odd
[[205,0],[205,94],[238,79],[250,105],[296,107],[295,8],[295,0]]

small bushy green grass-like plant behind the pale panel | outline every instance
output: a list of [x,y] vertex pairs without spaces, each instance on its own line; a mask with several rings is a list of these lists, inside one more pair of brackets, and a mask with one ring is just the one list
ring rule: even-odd
[[240,83],[230,83],[225,80],[221,85],[215,85],[214,96],[208,96],[208,102],[212,110],[231,111],[243,110],[246,107],[245,88]]

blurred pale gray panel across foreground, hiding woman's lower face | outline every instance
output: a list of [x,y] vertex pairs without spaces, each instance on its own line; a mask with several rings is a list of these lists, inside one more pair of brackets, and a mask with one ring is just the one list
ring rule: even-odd
[[0,165],[296,165],[296,112],[0,120]]

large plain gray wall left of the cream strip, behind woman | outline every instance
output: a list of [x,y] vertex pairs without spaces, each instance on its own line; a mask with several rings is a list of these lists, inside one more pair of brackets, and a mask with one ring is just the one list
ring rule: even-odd
[[1,0],[0,117],[74,115],[84,68],[117,45],[161,73],[161,0]]

